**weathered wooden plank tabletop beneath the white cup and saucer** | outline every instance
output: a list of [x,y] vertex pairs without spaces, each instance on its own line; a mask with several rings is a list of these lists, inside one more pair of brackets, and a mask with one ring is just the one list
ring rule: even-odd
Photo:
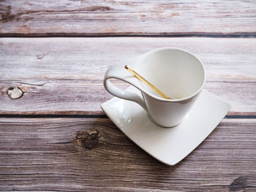
[[[1,191],[256,191],[256,1],[6,0],[0,36]],[[157,47],[195,53],[232,105],[176,166],[99,107],[105,71]]]

